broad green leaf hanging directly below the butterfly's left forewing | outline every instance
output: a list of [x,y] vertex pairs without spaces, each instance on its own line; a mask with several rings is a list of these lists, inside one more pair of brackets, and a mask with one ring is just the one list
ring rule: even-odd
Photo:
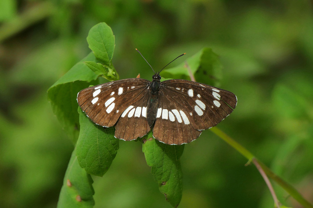
[[78,112],[80,114],[80,135],[76,147],[78,162],[87,173],[103,176],[116,156],[119,139],[114,137],[114,127],[99,126],[80,108]]

